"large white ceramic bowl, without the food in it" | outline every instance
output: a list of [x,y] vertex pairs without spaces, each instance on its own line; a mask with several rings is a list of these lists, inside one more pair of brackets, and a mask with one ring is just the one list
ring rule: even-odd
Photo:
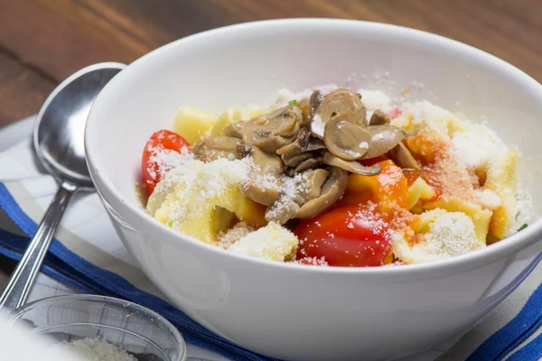
[[[383,79],[378,74],[384,74]],[[385,73],[385,72],[389,73]],[[375,75],[376,74],[376,75]],[[387,81],[383,81],[387,80]],[[537,263],[542,223],[438,264],[320,268],[229,254],[145,214],[135,196],[148,136],[179,106],[219,112],[266,104],[279,88],[335,83],[428,98],[486,116],[523,153],[542,199],[542,86],[483,51],[378,23],[279,20],[196,34],[152,51],[99,94],[86,129],[92,178],[118,235],[149,278],[193,319],[243,347],[291,360],[379,360],[416,353],[471,327]],[[435,100],[436,97],[436,100]],[[459,103],[457,103],[459,102]]]

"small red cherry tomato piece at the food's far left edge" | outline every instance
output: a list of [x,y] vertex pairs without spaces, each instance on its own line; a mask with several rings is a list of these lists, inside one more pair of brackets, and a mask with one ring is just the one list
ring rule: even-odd
[[151,135],[141,157],[141,173],[148,194],[153,193],[154,187],[162,179],[162,170],[155,155],[164,150],[181,153],[183,147],[190,149],[190,144],[181,135],[169,130],[159,130]]

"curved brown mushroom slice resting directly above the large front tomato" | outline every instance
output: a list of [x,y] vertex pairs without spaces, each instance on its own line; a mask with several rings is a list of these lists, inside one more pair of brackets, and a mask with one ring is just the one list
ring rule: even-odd
[[322,211],[332,207],[341,199],[348,183],[348,172],[341,168],[333,167],[327,180],[322,185],[320,196],[309,200],[295,215],[295,218],[313,218]]

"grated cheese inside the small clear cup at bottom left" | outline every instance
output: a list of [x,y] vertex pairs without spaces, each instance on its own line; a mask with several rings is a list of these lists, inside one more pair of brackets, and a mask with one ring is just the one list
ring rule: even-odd
[[68,351],[84,361],[137,361],[137,358],[128,354],[126,350],[99,338],[61,342],[53,347]]

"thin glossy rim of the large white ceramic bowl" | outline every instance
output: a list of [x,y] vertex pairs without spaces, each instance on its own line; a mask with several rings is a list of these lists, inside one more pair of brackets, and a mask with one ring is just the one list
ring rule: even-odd
[[[388,35],[391,38],[416,38],[416,40],[420,42],[434,44],[436,47],[439,48],[448,48],[449,50],[457,51],[458,53],[461,53],[463,57],[478,58],[484,60],[488,64],[488,67],[498,68],[500,69],[501,73],[507,74],[511,78],[518,79],[522,83],[521,88],[528,89],[529,92],[532,94],[538,93],[538,96],[540,97],[542,102],[542,85],[539,84],[537,80],[531,78],[524,71],[516,68],[515,66],[509,64],[509,62],[501,60],[500,58],[486,51],[481,51],[480,49],[472,47],[471,45],[465,44],[463,42],[458,42],[431,32],[424,32],[388,23],[375,23],[360,20],[332,18],[284,18],[223,26],[204,32],[194,33],[190,36],[166,43],[163,46],[154,49],[153,51],[147,52],[145,55],[129,64],[126,69],[122,70],[119,74],[117,74],[117,76],[111,81],[109,81],[106,87],[104,87],[102,91],[98,94],[98,97],[96,98],[90,109],[89,119],[85,128],[85,152],[87,154],[90,176],[96,186],[96,190],[98,191],[98,195],[102,199],[102,201],[104,201],[108,207],[115,209],[121,218],[128,218],[128,224],[130,224],[130,219],[136,219],[137,222],[144,222],[145,226],[147,227],[152,227],[154,229],[158,227],[159,230],[165,232],[167,235],[171,235],[171,239],[180,240],[180,242],[189,242],[192,245],[196,245],[197,247],[201,247],[202,249],[208,250],[210,252],[216,252],[220,254],[220,256],[232,257],[236,262],[256,264],[259,267],[270,267],[279,270],[295,270],[292,272],[357,275],[371,274],[393,277],[404,276],[408,278],[413,276],[419,277],[421,274],[424,273],[450,273],[453,271],[463,272],[473,268],[478,268],[480,264],[496,262],[506,257],[507,255],[512,255],[524,248],[527,248],[530,245],[534,245],[537,242],[540,242],[540,240],[542,239],[542,218],[537,218],[537,220],[534,221],[531,225],[529,225],[526,229],[505,239],[502,239],[500,240],[500,242],[493,244],[489,247],[484,247],[482,249],[469,252],[465,255],[457,255],[444,260],[424,264],[403,264],[400,266],[378,267],[321,267],[310,266],[306,264],[267,261],[256,257],[249,257],[245,255],[237,255],[231,253],[215,245],[208,245],[204,242],[201,242],[200,240],[192,236],[183,235],[182,233],[174,230],[171,227],[166,227],[162,223],[158,222],[156,219],[151,218],[148,214],[146,214],[144,208],[137,208],[134,205],[130,204],[130,202],[127,202],[121,195],[120,191],[107,182],[107,180],[104,178],[103,171],[99,171],[99,166],[96,164],[96,162],[94,162],[93,158],[92,149],[98,148],[98,142],[94,141],[94,143],[96,143],[95,146],[89,145],[93,143],[91,135],[89,134],[97,134],[97,130],[93,129],[95,123],[93,119],[97,118],[96,114],[98,113],[97,108],[99,109],[99,107],[101,106],[102,99],[107,98],[114,93],[113,90],[117,87],[117,84],[123,82],[124,79],[130,76],[131,72],[137,71],[139,67],[145,67],[146,62],[160,59],[162,54],[172,50],[173,48],[185,46],[186,44],[198,42],[199,40],[205,40],[206,38],[210,38],[218,34],[227,35],[228,33],[246,32],[250,29],[261,30],[268,28],[269,30],[272,30],[276,27],[284,26],[320,26],[328,27],[330,29],[332,27],[333,31],[335,32],[344,31],[350,28],[350,30],[356,29],[360,31],[370,30],[372,32],[379,32],[380,34]],[[110,197],[105,196],[104,193],[107,193]],[[116,207],[110,206],[108,198],[115,199]],[[136,229],[135,231],[139,232]],[[536,255],[533,254],[533,257],[534,256]]]

